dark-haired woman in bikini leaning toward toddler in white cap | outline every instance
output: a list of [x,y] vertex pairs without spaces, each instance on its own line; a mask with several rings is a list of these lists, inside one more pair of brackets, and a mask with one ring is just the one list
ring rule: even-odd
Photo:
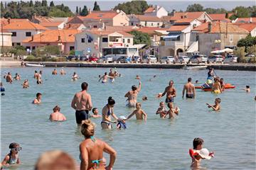
[[112,129],[111,123],[117,123],[117,121],[112,121],[110,117],[110,115],[112,115],[115,120],[118,120],[117,116],[114,115],[114,103],[114,99],[109,97],[107,100],[107,105],[102,108],[102,129]]

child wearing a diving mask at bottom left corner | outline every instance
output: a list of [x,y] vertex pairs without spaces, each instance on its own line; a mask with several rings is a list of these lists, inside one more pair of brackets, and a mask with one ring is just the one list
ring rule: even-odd
[[18,152],[21,151],[21,147],[18,143],[14,142],[9,145],[10,153],[6,155],[2,166],[9,166],[11,164],[21,164],[21,160],[18,158]]

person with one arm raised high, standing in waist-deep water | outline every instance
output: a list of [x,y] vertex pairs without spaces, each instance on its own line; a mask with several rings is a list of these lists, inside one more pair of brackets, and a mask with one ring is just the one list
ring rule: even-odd
[[139,88],[137,86],[133,85],[132,90],[128,91],[127,94],[125,94],[124,97],[127,97],[127,101],[129,102],[127,106],[129,107],[135,107],[137,103],[137,95],[139,94],[139,91],[142,89],[142,81],[139,81]]

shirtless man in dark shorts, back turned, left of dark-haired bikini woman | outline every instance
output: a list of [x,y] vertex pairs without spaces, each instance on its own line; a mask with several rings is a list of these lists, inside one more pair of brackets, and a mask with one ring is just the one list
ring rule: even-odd
[[88,84],[81,84],[82,91],[79,91],[73,97],[71,107],[75,109],[76,123],[81,124],[82,120],[89,119],[89,111],[92,109],[92,99],[87,93]]

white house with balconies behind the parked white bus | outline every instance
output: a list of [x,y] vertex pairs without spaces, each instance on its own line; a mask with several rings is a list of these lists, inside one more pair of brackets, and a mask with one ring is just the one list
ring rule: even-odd
[[75,35],[76,55],[90,54],[101,57],[112,48],[116,48],[117,53],[122,54],[121,47],[132,45],[133,35],[122,31],[85,30]]

